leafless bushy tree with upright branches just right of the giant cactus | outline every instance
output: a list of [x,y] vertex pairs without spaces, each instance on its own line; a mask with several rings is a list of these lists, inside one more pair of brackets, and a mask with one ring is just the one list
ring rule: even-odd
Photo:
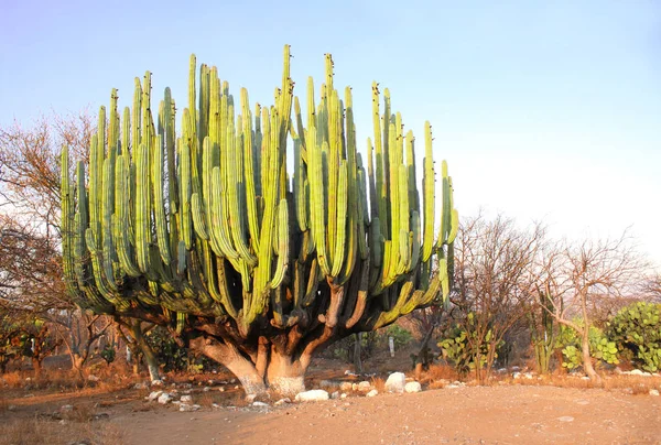
[[479,382],[490,375],[506,334],[525,316],[533,291],[532,267],[544,237],[540,224],[522,230],[503,216],[487,220],[480,215],[463,221],[455,242],[451,301],[462,314],[458,323],[468,334]]

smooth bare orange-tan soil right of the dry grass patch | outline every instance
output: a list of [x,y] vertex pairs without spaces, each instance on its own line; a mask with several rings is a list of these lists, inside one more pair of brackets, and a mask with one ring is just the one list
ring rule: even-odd
[[466,387],[416,394],[134,412],[127,444],[659,444],[661,400],[604,390]]

